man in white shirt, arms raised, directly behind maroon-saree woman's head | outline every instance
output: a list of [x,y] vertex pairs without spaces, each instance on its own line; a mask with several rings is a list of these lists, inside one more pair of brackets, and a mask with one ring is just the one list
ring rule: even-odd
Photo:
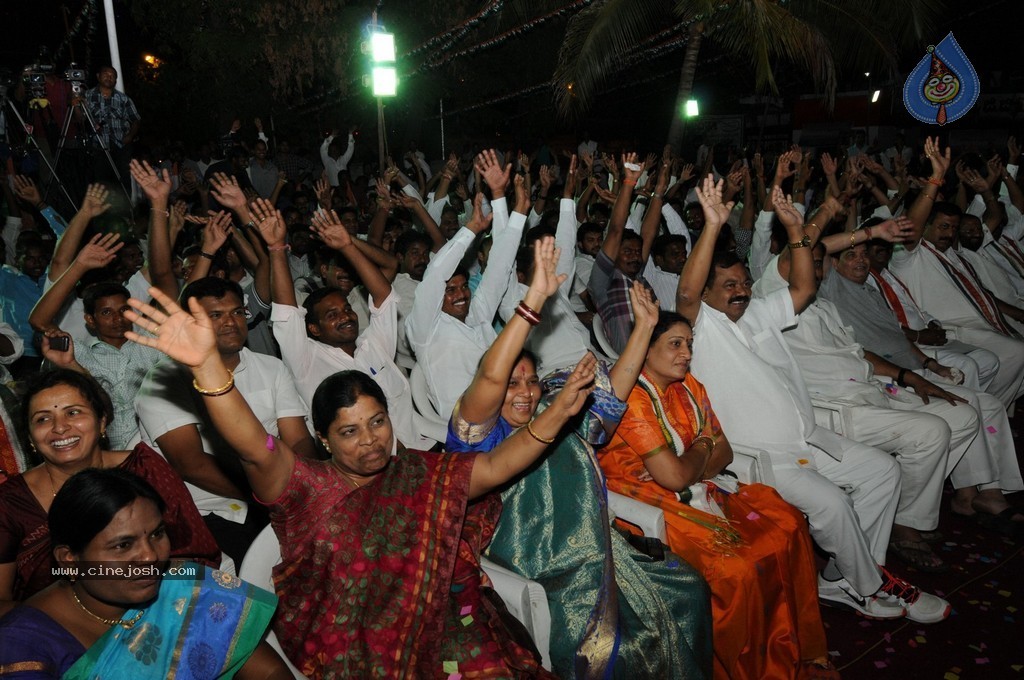
[[411,449],[433,447],[433,440],[420,434],[414,420],[409,380],[394,363],[398,298],[387,279],[362,254],[344,225],[317,215],[313,218],[317,235],[327,246],[351,263],[370,291],[370,324],[360,336],[359,321],[349,297],[335,288],[313,291],[305,300],[305,309],[300,309],[288,272],[288,250],[281,213],[269,212],[269,206],[257,206],[257,211],[261,211],[262,219],[258,224],[270,254],[273,299],[270,326],[281,347],[281,356],[295,377],[303,400],[312,403],[313,394],[326,377],[339,371],[361,371],[384,391],[398,441]]

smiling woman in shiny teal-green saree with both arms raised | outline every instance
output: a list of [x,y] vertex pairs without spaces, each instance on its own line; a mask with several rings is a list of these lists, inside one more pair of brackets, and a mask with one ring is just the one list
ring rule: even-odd
[[642,286],[631,291],[633,335],[610,373],[597,372],[588,410],[558,433],[536,431],[535,415],[568,374],[553,373],[542,386],[536,359],[522,351],[559,283],[553,268],[534,269],[517,315],[484,354],[449,423],[447,451],[492,451],[519,428],[549,444],[542,462],[502,494],[485,555],[544,586],[559,677],[711,677],[707,584],[682,558],[652,559],[611,529],[594,454],[625,413],[656,303]]

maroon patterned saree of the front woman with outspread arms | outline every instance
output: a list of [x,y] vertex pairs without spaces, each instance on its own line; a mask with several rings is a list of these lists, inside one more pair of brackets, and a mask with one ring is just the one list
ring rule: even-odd
[[357,490],[328,463],[296,460],[270,522],[274,631],[303,674],[550,677],[481,591],[501,503],[469,504],[473,460],[406,451]]

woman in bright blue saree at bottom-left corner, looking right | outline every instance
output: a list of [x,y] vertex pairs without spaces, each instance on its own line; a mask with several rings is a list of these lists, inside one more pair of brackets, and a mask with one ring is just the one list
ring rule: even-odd
[[196,562],[168,562],[163,499],[90,468],[53,499],[52,586],[0,619],[0,677],[263,678],[292,675],[263,633],[276,597]]

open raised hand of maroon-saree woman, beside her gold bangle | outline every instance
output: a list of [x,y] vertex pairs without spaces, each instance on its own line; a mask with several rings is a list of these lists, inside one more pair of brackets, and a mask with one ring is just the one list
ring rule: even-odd
[[217,335],[199,300],[188,298],[189,313],[159,288],[151,288],[150,295],[167,311],[129,298],[131,310],[125,312],[125,317],[153,335],[139,335],[129,331],[125,333],[126,338],[159,349],[175,362],[193,368],[217,355]]

